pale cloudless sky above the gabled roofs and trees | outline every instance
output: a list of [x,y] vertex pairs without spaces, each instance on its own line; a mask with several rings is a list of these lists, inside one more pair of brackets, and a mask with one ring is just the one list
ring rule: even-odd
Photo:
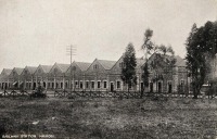
[[0,70],[71,62],[117,61],[129,42],[138,58],[152,41],[184,58],[194,23],[217,21],[217,0],[0,0]]

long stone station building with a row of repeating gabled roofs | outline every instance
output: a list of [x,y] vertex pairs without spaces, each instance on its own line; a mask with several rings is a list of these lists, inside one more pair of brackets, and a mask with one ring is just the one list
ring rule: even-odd
[[[148,60],[149,87],[148,91],[176,92],[180,88],[188,89],[190,78],[186,68],[186,61],[180,56],[176,58],[175,66],[170,67],[159,59],[159,63],[165,64],[158,67],[154,61],[161,54],[153,54]],[[153,63],[155,62],[155,63]],[[71,64],[54,63],[53,65],[39,65],[38,67],[26,66],[13,70],[3,68],[0,74],[0,88],[4,89],[36,89],[38,83],[47,90],[64,89],[75,91],[124,91],[144,90],[142,80],[142,68],[145,60],[137,59],[137,85],[127,86],[122,80],[123,56],[118,61],[107,61],[95,59],[92,63],[73,62]],[[152,66],[155,65],[155,66]]]

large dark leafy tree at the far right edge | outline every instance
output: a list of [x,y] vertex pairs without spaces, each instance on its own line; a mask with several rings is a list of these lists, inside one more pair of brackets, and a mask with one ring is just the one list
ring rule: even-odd
[[197,98],[206,75],[214,70],[210,60],[217,53],[217,22],[207,22],[200,28],[193,24],[186,46],[187,68],[191,71],[193,93]]

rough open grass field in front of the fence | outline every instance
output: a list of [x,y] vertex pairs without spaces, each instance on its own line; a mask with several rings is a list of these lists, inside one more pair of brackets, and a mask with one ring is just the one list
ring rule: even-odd
[[[38,123],[34,125],[33,123]],[[215,139],[217,100],[0,98],[0,131],[91,139]]]

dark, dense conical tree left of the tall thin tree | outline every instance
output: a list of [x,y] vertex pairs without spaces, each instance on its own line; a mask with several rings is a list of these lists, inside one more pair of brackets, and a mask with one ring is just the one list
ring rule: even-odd
[[132,43],[129,43],[127,46],[123,59],[124,59],[123,60],[124,66],[122,67],[122,79],[125,84],[128,85],[128,91],[129,91],[129,87],[131,87],[132,85],[137,85],[137,75],[136,75],[137,60],[136,60],[135,47]]

